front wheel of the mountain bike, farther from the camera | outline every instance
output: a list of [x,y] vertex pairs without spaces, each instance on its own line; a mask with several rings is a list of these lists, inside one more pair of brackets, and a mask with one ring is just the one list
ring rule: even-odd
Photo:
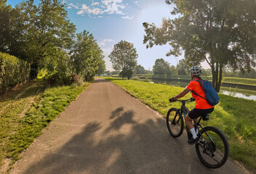
[[167,128],[173,137],[183,134],[184,120],[182,115],[177,112],[177,108],[171,108],[167,112]]

